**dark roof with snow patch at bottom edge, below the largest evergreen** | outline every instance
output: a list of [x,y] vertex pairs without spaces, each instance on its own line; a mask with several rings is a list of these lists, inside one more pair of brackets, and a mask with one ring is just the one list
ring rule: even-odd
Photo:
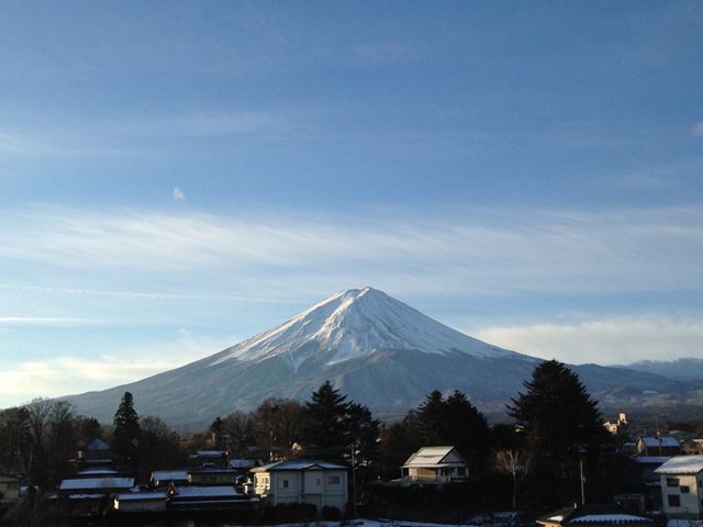
[[613,505],[584,505],[568,507],[537,518],[537,524],[544,527],[652,527],[651,518],[639,514],[632,514]]

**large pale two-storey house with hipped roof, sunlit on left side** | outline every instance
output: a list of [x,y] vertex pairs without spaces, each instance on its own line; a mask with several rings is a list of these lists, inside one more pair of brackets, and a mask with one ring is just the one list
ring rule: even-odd
[[324,461],[278,461],[252,469],[254,492],[269,506],[291,503],[335,507],[347,504],[347,468]]

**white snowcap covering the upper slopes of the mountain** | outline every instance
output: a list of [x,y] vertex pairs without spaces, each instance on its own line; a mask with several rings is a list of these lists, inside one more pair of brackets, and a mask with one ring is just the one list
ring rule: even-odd
[[298,369],[311,357],[334,365],[383,349],[527,358],[464,335],[382,291],[365,288],[333,294],[281,326],[225,350],[211,366],[282,356]]

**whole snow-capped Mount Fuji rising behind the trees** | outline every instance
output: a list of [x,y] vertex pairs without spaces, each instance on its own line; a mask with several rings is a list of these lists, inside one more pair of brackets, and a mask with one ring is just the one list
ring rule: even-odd
[[[142,415],[202,425],[266,397],[306,400],[325,380],[380,415],[401,416],[432,390],[462,390],[481,410],[504,410],[540,359],[492,346],[371,288],[334,294],[281,326],[175,370],[64,397],[112,421],[124,391]],[[574,367],[591,391],[633,396],[680,390],[661,375]]]

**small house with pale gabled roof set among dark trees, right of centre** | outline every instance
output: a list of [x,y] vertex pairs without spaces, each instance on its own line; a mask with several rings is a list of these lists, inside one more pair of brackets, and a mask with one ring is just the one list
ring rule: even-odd
[[469,467],[454,447],[423,447],[400,470],[408,484],[445,484],[469,478]]

